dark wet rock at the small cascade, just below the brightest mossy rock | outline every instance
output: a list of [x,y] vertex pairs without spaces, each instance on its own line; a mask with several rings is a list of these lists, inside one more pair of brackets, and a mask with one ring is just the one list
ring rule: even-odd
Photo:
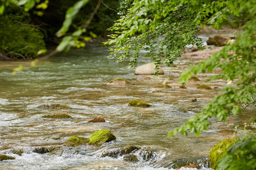
[[98,153],[98,157],[105,157],[109,156],[112,158],[118,158],[118,156],[130,154],[132,152],[138,151],[140,148],[136,146],[129,146],[129,147],[124,147],[124,148],[113,148],[109,150],[104,150]]

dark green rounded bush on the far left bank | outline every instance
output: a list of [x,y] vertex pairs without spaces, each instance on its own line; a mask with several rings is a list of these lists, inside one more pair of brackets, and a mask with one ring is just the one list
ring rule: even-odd
[[2,57],[34,58],[45,48],[42,33],[30,21],[30,15],[22,7],[10,4],[5,8],[0,18]]

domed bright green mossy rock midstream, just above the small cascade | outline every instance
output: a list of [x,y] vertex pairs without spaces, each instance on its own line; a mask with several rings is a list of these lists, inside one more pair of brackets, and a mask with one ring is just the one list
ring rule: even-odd
[[90,135],[89,145],[101,146],[105,142],[110,142],[115,139],[115,135],[106,129],[101,129]]

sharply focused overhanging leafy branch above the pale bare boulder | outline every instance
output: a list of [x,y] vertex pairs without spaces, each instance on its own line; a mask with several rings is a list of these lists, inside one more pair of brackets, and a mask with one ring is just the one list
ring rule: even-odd
[[[126,3],[125,3],[126,2]],[[130,1],[125,1],[129,5]],[[110,40],[105,45],[113,45],[111,58],[118,62],[130,57],[130,66],[135,67],[139,52],[146,50],[159,70],[160,62],[172,66],[185,45],[196,45],[204,49],[201,39],[196,36],[196,14],[180,3],[172,5],[170,1],[134,1],[127,13],[117,20],[110,31]],[[157,72],[156,72],[157,74]]]

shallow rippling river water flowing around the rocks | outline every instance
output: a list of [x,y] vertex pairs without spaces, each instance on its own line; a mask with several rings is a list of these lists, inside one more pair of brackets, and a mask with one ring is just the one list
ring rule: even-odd
[[[177,159],[207,160],[210,148],[227,137],[228,134],[220,133],[227,129],[227,124],[214,118],[210,120],[209,131],[198,138],[193,134],[167,137],[168,131],[199,112],[226,86],[226,82],[216,80],[208,84],[217,89],[197,90],[196,86],[212,74],[199,74],[201,81],[191,82],[185,89],[175,86],[181,71],[198,63],[199,56],[181,57],[176,67],[163,66],[164,75],[147,75],[151,79],[145,79],[142,75],[134,75],[127,61],[115,63],[106,58],[108,53],[100,47],[74,49],[40,61],[36,67],[29,67],[28,61],[0,62],[0,154],[15,157],[15,160],[1,161],[0,169],[170,169],[168,165]],[[142,58],[138,65],[148,62],[150,59]],[[19,64],[25,70],[11,75]],[[129,80],[130,84],[106,84],[114,78]],[[174,87],[157,87],[163,82]],[[197,102],[188,101],[192,98]],[[133,99],[153,106],[129,107]],[[65,104],[72,109],[37,108],[41,104]],[[247,112],[253,113],[250,108]],[[54,113],[68,113],[73,118],[42,118]],[[88,122],[99,115],[106,122]],[[248,117],[233,116],[228,121],[242,124]],[[89,137],[100,129],[112,131],[117,139],[100,147],[69,148],[61,156],[33,150],[40,146],[61,145],[73,135]],[[134,152],[139,162],[126,162],[122,156],[99,156],[102,151],[127,146],[141,148]],[[23,154],[10,151],[19,149]],[[143,159],[145,155],[147,159]],[[207,163],[201,165],[201,169],[209,169]]]

